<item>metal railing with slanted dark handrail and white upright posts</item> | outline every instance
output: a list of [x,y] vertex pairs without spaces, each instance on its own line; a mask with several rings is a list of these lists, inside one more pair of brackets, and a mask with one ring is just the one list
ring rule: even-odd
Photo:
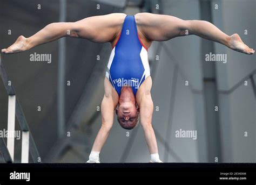
[[[42,162],[35,141],[33,140],[32,134],[29,130],[29,125],[26,122],[26,118],[22,111],[21,105],[16,97],[14,87],[10,83],[9,77],[6,73],[2,62],[2,54],[0,53],[0,75],[4,83],[4,87],[8,94],[8,132],[15,131],[15,115],[18,119],[19,125],[22,130],[22,155],[21,162],[29,162],[29,153],[32,157],[33,162]],[[7,138],[7,146],[5,145],[4,139],[0,139],[0,152],[3,154],[5,162],[14,161],[14,148],[15,148],[15,137]]]

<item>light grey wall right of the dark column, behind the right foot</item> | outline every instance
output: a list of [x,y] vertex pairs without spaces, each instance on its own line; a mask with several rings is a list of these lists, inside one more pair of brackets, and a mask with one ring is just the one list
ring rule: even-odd
[[[238,33],[248,46],[255,47],[256,1],[245,2],[213,1],[212,5],[219,5],[219,10],[213,12],[214,24],[227,34]],[[244,34],[245,30],[248,34]],[[216,53],[227,54],[227,63],[216,63],[223,161],[255,162],[255,84],[250,79],[256,72],[255,55],[214,46]]]

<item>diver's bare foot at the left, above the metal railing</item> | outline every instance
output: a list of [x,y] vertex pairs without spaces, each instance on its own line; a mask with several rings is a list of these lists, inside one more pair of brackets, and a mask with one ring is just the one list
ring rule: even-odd
[[2,49],[2,53],[11,54],[11,53],[18,53],[24,52],[28,50],[28,41],[22,35],[18,37],[18,39],[7,49]]

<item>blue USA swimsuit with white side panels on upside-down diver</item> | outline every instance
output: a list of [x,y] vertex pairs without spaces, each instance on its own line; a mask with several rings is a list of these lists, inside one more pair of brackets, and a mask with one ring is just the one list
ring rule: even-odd
[[130,86],[133,94],[136,95],[140,85],[148,76],[150,76],[150,67],[147,48],[139,39],[134,16],[126,16],[120,37],[112,49],[107,64],[106,77],[118,95],[124,86]]

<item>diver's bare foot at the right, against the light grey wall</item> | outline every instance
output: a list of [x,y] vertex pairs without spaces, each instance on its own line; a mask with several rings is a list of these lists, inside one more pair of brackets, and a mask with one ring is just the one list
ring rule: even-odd
[[237,33],[230,36],[230,39],[228,39],[228,45],[231,49],[248,55],[252,55],[255,52],[252,48],[248,47],[244,44],[244,42],[242,42]]

